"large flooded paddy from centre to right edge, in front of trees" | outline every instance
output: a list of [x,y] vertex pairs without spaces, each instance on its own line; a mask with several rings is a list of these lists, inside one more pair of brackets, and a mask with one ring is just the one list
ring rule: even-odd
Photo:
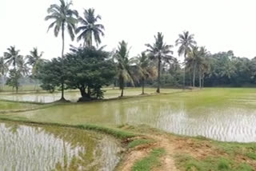
[[202,89],[58,105],[9,117],[67,124],[141,125],[219,141],[256,141],[256,89]]

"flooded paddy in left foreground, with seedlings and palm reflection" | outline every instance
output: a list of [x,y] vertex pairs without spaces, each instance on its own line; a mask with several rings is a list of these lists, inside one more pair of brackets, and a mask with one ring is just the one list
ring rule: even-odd
[[106,170],[120,160],[118,141],[100,133],[0,122],[1,170]]

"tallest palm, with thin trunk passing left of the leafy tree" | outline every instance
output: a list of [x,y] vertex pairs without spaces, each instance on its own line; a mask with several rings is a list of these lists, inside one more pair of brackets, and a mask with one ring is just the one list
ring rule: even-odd
[[[54,27],[54,35],[58,37],[59,30],[62,31],[62,58],[64,57],[64,47],[65,47],[65,30],[68,30],[71,40],[74,40],[74,30],[77,24],[78,11],[71,10],[72,2],[65,2],[64,0],[59,0],[60,5],[52,4],[48,8],[47,12],[49,15],[46,16],[46,21],[51,20],[48,30]],[[64,81],[62,82],[62,97],[64,98]]]

